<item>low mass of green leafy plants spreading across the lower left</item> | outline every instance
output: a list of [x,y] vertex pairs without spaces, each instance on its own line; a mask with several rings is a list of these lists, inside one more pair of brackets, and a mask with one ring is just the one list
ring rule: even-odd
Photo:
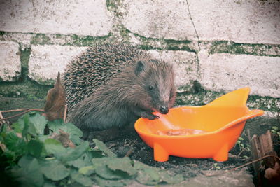
[[[30,112],[11,125],[1,125],[0,158],[6,174],[21,186],[126,186],[179,183],[181,174],[117,158],[102,141],[95,147],[82,132],[63,120],[48,121]],[[2,163],[2,165],[3,165]]]

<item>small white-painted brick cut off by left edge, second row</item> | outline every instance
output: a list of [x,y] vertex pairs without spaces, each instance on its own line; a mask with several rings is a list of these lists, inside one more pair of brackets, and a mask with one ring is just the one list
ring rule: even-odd
[[0,41],[0,81],[16,81],[20,76],[19,48],[13,41]]

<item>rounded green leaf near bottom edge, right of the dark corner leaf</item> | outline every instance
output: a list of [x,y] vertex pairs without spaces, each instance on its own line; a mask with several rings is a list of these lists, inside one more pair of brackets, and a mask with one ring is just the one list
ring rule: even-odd
[[70,174],[69,169],[57,160],[48,160],[44,162],[41,171],[47,179],[52,181],[62,180]]

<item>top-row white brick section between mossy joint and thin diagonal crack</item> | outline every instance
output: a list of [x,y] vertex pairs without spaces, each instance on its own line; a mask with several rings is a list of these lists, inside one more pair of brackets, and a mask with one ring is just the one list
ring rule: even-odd
[[151,38],[197,39],[185,0],[125,0],[123,24]]

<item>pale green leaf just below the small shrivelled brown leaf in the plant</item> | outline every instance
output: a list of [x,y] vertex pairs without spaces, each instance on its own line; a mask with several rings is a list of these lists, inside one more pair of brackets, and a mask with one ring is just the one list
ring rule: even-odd
[[45,139],[45,150],[57,158],[61,158],[66,153],[66,148],[56,139]]

